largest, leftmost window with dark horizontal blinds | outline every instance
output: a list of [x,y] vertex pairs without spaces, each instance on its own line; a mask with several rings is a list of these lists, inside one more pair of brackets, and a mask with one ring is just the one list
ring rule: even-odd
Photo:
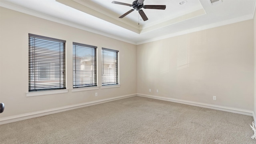
[[66,41],[28,34],[28,92],[66,89]]

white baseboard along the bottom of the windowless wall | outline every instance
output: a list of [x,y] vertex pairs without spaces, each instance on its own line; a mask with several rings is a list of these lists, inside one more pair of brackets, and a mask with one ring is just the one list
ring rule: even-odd
[[254,121],[255,121],[254,112],[251,110],[244,110],[244,109],[232,108],[232,107],[226,107],[226,106],[218,106],[218,105],[213,105],[213,104],[206,104],[206,103],[201,103],[201,102],[193,102],[193,101],[188,101],[188,100],[180,100],[180,99],[167,98],[167,97],[161,97],[161,96],[152,96],[152,95],[148,95],[148,94],[137,94],[137,96],[146,97],[146,98],[154,98],[157,100],[165,100],[165,101],[169,101],[169,102],[176,102],[176,103],[180,103],[180,104],[188,104],[188,105],[192,105],[192,106],[199,106],[199,107],[210,108],[210,109],[214,109],[214,110],[222,110],[225,112],[232,112],[232,113],[236,113],[236,114],[244,114],[247,116],[253,116]]

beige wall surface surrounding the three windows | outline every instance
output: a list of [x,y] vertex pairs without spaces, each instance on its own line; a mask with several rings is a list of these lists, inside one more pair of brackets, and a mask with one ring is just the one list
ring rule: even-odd
[[[2,7],[0,13],[0,102],[5,104],[1,118],[136,93],[136,45]],[[26,97],[28,33],[66,40],[68,93]],[[120,88],[71,92],[72,42],[98,47],[99,85],[101,84],[101,48],[119,50]],[[95,92],[98,92],[98,96],[95,96]]]

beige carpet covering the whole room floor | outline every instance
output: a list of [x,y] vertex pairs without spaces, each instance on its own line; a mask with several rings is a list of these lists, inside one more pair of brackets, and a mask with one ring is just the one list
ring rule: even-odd
[[0,144],[256,144],[252,121],[136,96],[0,125]]

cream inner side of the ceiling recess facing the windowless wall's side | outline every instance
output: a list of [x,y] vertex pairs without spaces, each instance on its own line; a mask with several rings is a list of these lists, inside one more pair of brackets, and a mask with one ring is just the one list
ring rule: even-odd
[[179,16],[179,17],[177,17],[177,18],[173,18],[173,19],[168,20],[168,21],[166,21],[166,22],[162,22],[162,23],[160,23],[160,24],[156,24],[156,25],[150,26],[150,27],[148,27],[148,28],[142,28],[142,29],[140,30],[140,34],[145,33],[145,32],[149,32],[149,31],[152,31],[152,30],[156,30],[156,29],[158,29],[158,28],[163,28],[163,27],[165,27],[165,26],[170,26],[170,25],[172,25],[172,24],[176,24],[176,23],[178,23],[178,22],[182,22],[182,21],[188,20],[188,19],[190,19],[190,18],[195,18],[195,17],[197,17],[197,16],[202,16],[202,15],[204,15],[204,14],[206,14],[206,12],[205,12],[204,9],[202,8],[202,9],[200,9],[200,10],[196,10],[196,11],[194,11],[194,12],[191,12],[191,13],[188,13],[188,14],[184,14],[183,16]]

